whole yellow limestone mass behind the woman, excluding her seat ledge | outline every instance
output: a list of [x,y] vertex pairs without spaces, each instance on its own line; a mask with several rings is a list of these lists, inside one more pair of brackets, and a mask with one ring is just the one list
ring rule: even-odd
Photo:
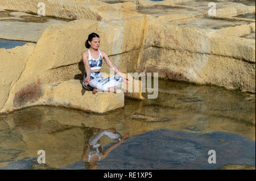
[[[17,6],[14,0],[0,0],[0,6],[36,13],[37,1],[27,2]],[[158,72],[159,77],[175,81],[255,92],[251,3],[214,2],[217,10],[212,16],[207,0],[42,2],[47,16],[73,21],[44,30],[26,68],[11,90],[5,90],[0,112],[27,104],[27,95],[33,98],[29,102],[38,102],[45,94],[40,86],[81,79],[85,71],[81,52],[91,32],[100,35],[101,49],[123,73]],[[106,64],[102,72],[109,73]]]

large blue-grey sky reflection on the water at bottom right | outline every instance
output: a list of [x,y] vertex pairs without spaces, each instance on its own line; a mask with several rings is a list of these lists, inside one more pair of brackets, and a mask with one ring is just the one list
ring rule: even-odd
[[[216,164],[208,163],[209,150],[216,150],[219,158]],[[222,132],[200,135],[160,129],[131,137],[100,161],[99,166],[100,169],[218,169],[229,163],[255,166],[255,141]]]

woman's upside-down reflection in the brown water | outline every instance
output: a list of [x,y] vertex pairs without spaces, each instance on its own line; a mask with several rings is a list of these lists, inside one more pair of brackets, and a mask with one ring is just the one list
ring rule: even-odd
[[[118,140],[118,142],[102,152],[101,137],[108,136],[112,140]],[[105,159],[106,156],[117,146],[129,139],[129,134],[121,137],[115,128],[99,129],[99,128],[85,128],[84,140],[85,148],[82,153],[82,161],[85,162],[87,169],[98,169],[97,161]]]

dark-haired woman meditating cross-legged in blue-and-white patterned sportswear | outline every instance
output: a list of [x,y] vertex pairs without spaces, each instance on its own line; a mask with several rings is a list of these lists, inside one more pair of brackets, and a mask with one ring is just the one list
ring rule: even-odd
[[[96,94],[98,90],[115,92],[115,86],[120,85],[122,81],[128,84],[128,79],[117,69],[116,66],[112,64],[109,60],[108,54],[103,50],[98,49],[100,47],[100,36],[98,36],[97,33],[90,33],[88,39],[85,41],[85,47],[88,48],[87,51],[82,52],[82,61],[85,66],[82,86],[84,86],[85,89],[93,89],[93,94]],[[96,59],[97,57],[98,59]],[[103,58],[106,64],[108,64],[108,66],[114,69],[115,73],[118,74],[117,76],[108,78],[101,77]]]

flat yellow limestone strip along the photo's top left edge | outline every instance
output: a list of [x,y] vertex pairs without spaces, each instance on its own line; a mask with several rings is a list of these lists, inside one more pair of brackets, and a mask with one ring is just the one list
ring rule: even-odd
[[[131,2],[119,3],[118,5],[113,5],[109,3],[104,3],[100,1],[62,1],[62,0],[42,0],[41,4],[37,0],[27,0],[24,3],[18,3],[16,0],[1,0],[0,6],[7,10],[32,12],[38,14],[38,10],[45,7],[46,16],[53,16],[64,19],[87,19],[87,20],[97,20],[101,21],[102,16],[101,11],[108,10],[125,10],[125,9],[135,9],[136,5]],[[42,6],[42,3],[44,5]]]

